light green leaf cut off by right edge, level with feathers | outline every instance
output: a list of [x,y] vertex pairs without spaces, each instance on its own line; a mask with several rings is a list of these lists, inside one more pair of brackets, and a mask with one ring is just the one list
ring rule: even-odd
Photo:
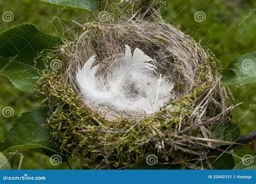
[[256,53],[234,58],[221,72],[223,85],[256,82]]

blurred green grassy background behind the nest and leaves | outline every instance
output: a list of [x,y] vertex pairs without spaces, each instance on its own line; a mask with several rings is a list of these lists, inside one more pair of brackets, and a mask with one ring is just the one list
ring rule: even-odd
[[[11,11],[14,19],[4,22],[2,15]],[[197,22],[196,12],[203,11],[205,19]],[[40,30],[60,35],[68,30],[71,20],[86,18],[84,11],[64,10],[58,18],[58,9],[48,8],[39,0],[0,0],[0,32],[22,23],[33,23]],[[250,15],[250,16],[248,16]],[[256,52],[256,1],[255,0],[172,0],[168,2],[164,13],[167,22],[179,26],[180,30],[196,39],[201,46],[211,51],[221,61],[223,66],[236,55]],[[239,24],[242,19],[244,23]],[[49,25],[49,21],[53,20]],[[237,111],[234,110],[234,121],[256,103],[256,85],[231,88],[237,102],[243,102]],[[0,141],[2,141],[14,123],[23,112],[39,106],[35,94],[17,90],[6,77],[0,76],[0,110],[5,107],[14,109],[11,117],[0,116]],[[255,131],[256,109],[241,119],[239,125],[241,134]],[[18,159],[16,159],[16,162]],[[15,163],[17,165],[17,163]],[[60,169],[68,168],[63,163],[52,166],[49,158],[38,153],[25,153],[23,169]]]

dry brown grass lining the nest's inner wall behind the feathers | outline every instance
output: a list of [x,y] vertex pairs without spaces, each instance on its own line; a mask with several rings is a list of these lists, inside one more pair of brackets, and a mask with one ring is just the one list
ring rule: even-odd
[[[122,20],[113,25],[93,22],[83,26],[84,32],[76,40],[67,43],[68,49],[65,50],[69,67],[64,77],[72,81],[77,93],[79,88],[73,77],[78,68],[82,68],[93,54],[97,54],[101,66],[98,75],[107,77],[123,57],[124,45],[142,49],[157,62],[157,73],[176,83],[174,93],[177,99],[189,94],[194,87],[217,80],[216,76],[212,76],[214,74],[210,65],[207,65],[208,56],[203,49],[190,37],[159,19],[153,22]],[[206,77],[204,80],[201,80],[201,73]],[[109,112],[109,119],[124,116],[138,119],[144,116],[136,112],[118,112],[111,107],[105,109]]]

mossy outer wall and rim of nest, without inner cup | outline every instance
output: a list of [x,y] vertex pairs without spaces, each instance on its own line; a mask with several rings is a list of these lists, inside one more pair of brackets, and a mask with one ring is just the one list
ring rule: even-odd
[[[127,27],[127,22],[122,21]],[[143,21],[145,20],[137,20],[136,24],[141,25]],[[158,20],[146,21],[146,23],[152,25],[156,24],[156,21]],[[220,77],[217,72],[218,61],[214,55],[211,52],[204,52],[196,44],[196,41],[175,27],[164,22],[157,23],[169,29],[171,27],[171,30],[178,33],[179,37],[183,36],[184,39],[189,40],[189,44],[186,43],[187,46],[196,51],[191,55],[200,58],[196,66],[200,72],[194,76],[198,77],[197,80],[190,82],[187,90],[180,95],[178,100],[166,103],[156,114],[143,115],[139,118],[111,119],[100,115],[97,110],[86,107],[78,95],[80,92],[74,82],[76,69],[81,67],[86,59],[82,59],[82,62],[80,59],[79,62],[70,62],[72,61],[70,55],[83,58],[74,54],[77,49],[77,42],[74,40],[61,46],[62,53],[57,54],[57,57],[62,58],[65,62],[64,74],[49,71],[39,82],[38,94],[46,97],[43,103],[46,107],[50,107],[49,114],[55,111],[63,101],[68,105],[68,110],[64,110],[64,108],[59,110],[53,116],[51,115],[52,119],[48,122],[53,132],[53,144],[56,144],[61,151],[72,155],[81,165],[93,168],[100,158],[109,153],[113,154],[104,164],[100,165],[100,168],[133,167],[145,161],[145,156],[148,154],[156,154],[161,164],[176,162],[177,158],[184,157],[183,152],[200,155],[205,148],[214,147],[212,142],[216,139],[211,135],[214,123],[225,124],[226,119],[230,118],[228,114],[231,108],[227,108],[226,105],[227,94],[225,88],[220,86]],[[88,29],[80,36],[86,38],[84,33],[87,33],[91,27],[109,27],[110,25],[93,22],[84,26],[88,26]],[[80,36],[76,40],[82,40]],[[179,37],[177,39],[180,39]],[[159,40],[156,41],[159,43]],[[166,43],[160,41],[159,44]],[[67,50],[69,52],[65,53]],[[145,49],[144,52],[147,54]],[[52,58],[56,58],[56,54],[49,56],[46,60]],[[50,81],[51,84],[49,84]],[[46,89],[46,86],[49,89]],[[64,89],[68,96],[57,93]],[[70,96],[72,96],[72,100],[69,99]],[[172,105],[172,108],[167,109],[168,105]],[[71,110],[72,108],[75,110]],[[61,118],[58,117],[60,115]],[[78,121],[75,123],[65,115],[71,115]],[[72,131],[69,132],[68,129],[71,126]],[[77,139],[76,143],[72,143],[74,139]],[[132,140],[133,143],[131,143]],[[192,143],[193,141],[198,143]],[[219,142],[221,143],[221,140]],[[121,153],[122,150],[125,152],[124,154]],[[185,161],[183,164],[189,165]]]

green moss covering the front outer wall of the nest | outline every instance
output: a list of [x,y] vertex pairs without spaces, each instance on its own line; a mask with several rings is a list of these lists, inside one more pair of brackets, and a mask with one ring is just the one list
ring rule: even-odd
[[[178,101],[172,101],[171,110],[162,108],[154,116],[145,117],[141,122],[107,121],[95,112],[86,109],[80,97],[62,81],[55,71],[46,71],[38,83],[37,95],[48,112],[48,125],[52,131],[52,144],[63,153],[72,155],[86,168],[95,168],[109,153],[99,168],[134,167],[145,163],[146,155],[155,154],[159,164],[170,163],[174,155],[182,152],[175,149],[170,155],[169,148],[161,148],[160,140],[171,144],[175,140],[173,132],[180,119],[189,119],[198,96],[207,87],[202,85],[193,89]],[[95,121],[97,119],[100,126]],[[114,131],[112,131],[114,130]],[[187,154],[186,157],[192,157]]]

